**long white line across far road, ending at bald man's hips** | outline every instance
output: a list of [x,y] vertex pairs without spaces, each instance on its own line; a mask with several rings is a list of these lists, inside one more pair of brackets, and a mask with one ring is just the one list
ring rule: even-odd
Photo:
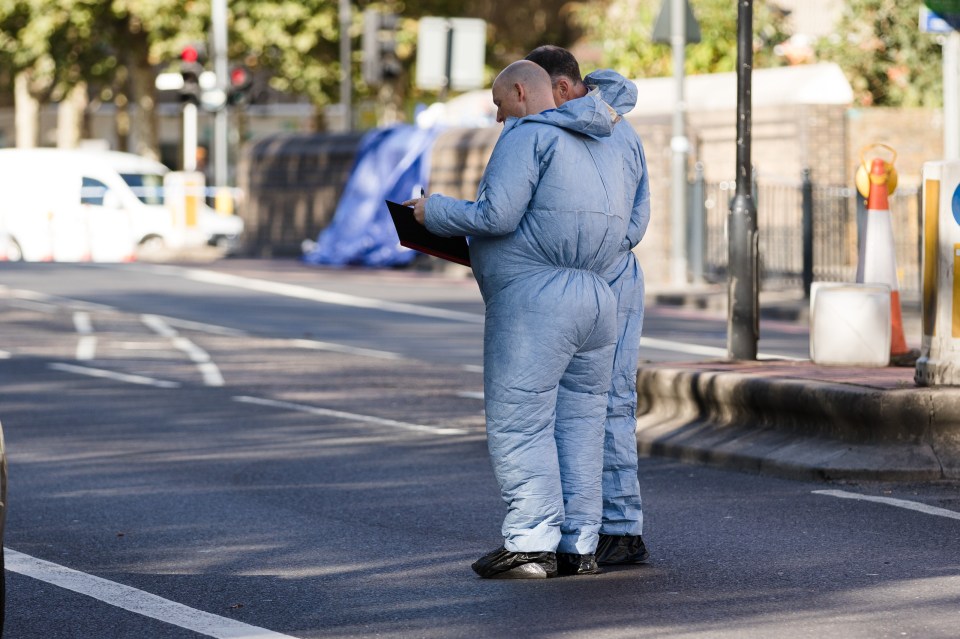
[[233,286],[235,288],[242,288],[249,291],[271,293],[273,295],[282,295],[284,297],[293,297],[302,300],[310,300],[313,302],[323,302],[324,304],[353,306],[356,308],[372,308],[380,311],[405,313],[407,315],[419,315],[421,317],[434,317],[458,322],[469,322],[471,324],[483,323],[483,313],[464,313],[461,311],[449,311],[431,306],[418,306],[416,304],[405,304],[403,302],[389,302],[385,300],[372,299],[369,297],[360,297],[359,295],[324,291],[307,286],[299,286],[296,284],[281,284],[279,282],[270,282],[267,280],[240,277],[238,275],[229,275],[227,273],[216,273],[213,271],[203,271],[199,269],[163,266],[154,267],[152,270],[159,273],[183,277],[195,282],[219,284],[221,286]]

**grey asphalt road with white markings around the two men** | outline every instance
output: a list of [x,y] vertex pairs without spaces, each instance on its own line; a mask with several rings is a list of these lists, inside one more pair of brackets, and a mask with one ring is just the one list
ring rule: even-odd
[[[644,459],[649,564],[476,578],[504,512],[482,312],[472,280],[405,271],[4,264],[6,636],[960,634],[955,484]],[[762,335],[805,353],[802,326]],[[725,336],[651,308],[643,357]]]

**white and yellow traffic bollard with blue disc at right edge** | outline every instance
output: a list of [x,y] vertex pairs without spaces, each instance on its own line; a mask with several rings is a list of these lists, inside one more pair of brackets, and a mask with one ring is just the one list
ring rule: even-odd
[[960,161],[923,165],[923,340],[914,381],[960,386]]

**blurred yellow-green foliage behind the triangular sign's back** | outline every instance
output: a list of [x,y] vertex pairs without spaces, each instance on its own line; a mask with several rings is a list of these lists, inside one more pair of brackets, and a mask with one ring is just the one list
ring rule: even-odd
[[[585,31],[588,47],[599,50],[597,63],[634,78],[667,76],[673,72],[671,49],[653,42],[653,28],[663,0],[578,2],[574,15]],[[687,73],[735,71],[737,64],[737,3],[730,0],[690,0],[700,24],[701,42],[687,45]],[[789,37],[785,15],[773,4],[754,2],[754,66],[783,64],[774,47]]]

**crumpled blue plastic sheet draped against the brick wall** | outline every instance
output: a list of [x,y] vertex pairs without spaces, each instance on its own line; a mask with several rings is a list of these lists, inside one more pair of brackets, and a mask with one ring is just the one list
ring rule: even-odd
[[363,137],[330,225],[303,256],[310,264],[400,266],[416,251],[400,246],[384,200],[419,196],[430,173],[436,128],[399,125]]

